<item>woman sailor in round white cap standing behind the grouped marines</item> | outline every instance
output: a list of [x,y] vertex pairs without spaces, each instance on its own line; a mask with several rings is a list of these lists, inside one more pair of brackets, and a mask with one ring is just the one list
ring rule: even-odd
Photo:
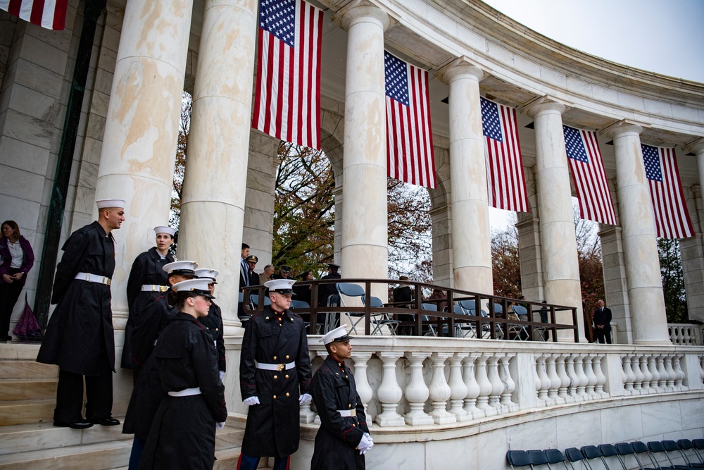
[[154,233],[156,233],[156,247],[151,247],[134,259],[130,277],[127,278],[127,305],[130,308],[130,314],[125,326],[125,344],[122,346],[120,366],[122,369],[132,369],[132,376],[135,379],[144,362],[146,352],[151,351],[153,347],[153,341],[146,345],[148,351],[144,350],[144,345],[137,344],[133,352],[134,326],[137,325],[139,329],[142,323],[150,320],[147,314],[151,311],[151,304],[159,297],[163,297],[169,288],[168,276],[163,266],[175,261],[169,253],[169,247],[173,244],[176,230],[162,225],[154,227]]

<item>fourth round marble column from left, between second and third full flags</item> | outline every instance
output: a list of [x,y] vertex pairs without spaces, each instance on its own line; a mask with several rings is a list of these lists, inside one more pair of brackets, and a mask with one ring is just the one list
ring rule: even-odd
[[457,289],[494,293],[479,103],[481,69],[460,57],[439,73],[450,88],[453,278]]

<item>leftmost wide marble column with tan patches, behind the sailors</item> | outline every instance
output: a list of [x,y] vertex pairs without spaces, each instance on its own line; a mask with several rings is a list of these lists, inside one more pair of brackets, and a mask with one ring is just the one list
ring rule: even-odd
[[126,202],[111,287],[118,328],[127,317],[132,261],[154,245],[153,228],[169,220],[192,10],[192,0],[125,6],[95,189],[95,199]]

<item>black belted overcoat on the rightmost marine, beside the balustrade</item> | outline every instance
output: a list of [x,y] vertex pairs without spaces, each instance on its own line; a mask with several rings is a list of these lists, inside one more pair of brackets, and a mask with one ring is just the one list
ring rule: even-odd
[[[356,447],[369,428],[354,376],[347,365],[328,356],[313,376],[310,394],[320,416],[310,468],[364,469],[364,456]],[[340,416],[337,411],[340,409],[355,409],[357,416]]]

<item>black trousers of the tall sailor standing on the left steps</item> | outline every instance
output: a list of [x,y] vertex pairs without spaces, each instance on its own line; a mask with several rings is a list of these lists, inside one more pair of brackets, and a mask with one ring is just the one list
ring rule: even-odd
[[108,363],[105,350],[100,353],[100,375],[83,376],[80,373],[58,371],[54,421],[75,423],[83,421],[83,381],[86,390],[86,419],[108,418],[113,412],[113,366]]

